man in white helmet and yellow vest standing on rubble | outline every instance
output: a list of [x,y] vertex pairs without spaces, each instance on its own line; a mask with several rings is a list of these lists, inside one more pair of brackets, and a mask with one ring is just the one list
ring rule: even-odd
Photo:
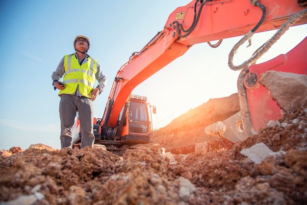
[[[65,55],[51,76],[54,90],[60,90],[58,95],[61,98],[61,148],[73,145],[72,129],[77,112],[81,129],[81,148],[93,147],[93,101],[106,85],[106,77],[98,61],[87,54],[90,40],[86,36],[77,36],[74,48],[76,52]],[[59,81],[61,77],[63,82]],[[95,78],[98,80],[96,88]]]

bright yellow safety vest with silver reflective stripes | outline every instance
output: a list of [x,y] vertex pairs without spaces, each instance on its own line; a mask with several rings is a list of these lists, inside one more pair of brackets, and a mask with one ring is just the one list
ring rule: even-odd
[[79,85],[81,95],[90,98],[89,94],[94,88],[97,73],[97,60],[88,56],[88,61],[79,65],[75,54],[65,55],[64,68],[63,83],[65,89],[60,90],[59,96],[62,94],[75,94]]

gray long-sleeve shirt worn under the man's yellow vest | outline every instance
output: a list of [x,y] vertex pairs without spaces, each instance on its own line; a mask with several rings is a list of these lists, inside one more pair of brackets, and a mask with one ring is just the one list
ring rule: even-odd
[[[76,52],[74,54],[77,57]],[[80,63],[82,63],[82,64],[86,63],[89,60],[88,57],[89,57],[89,55],[87,54],[83,61],[82,61],[82,59],[79,59],[77,57],[79,64]],[[95,77],[98,80],[97,88],[99,89],[99,94],[101,94],[102,91],[103,91],[103,88],[106,86],[106,82],[107,81],[106,81],[106,77],[104,76],[103,71],[102,71],[98,61],[97,61],[97,66],[96,67],[97,67],[97,73],[96,73]],[[59,81],[60,78],[64,76],[64,74],[65,74],[65,68],[64,68],[64,57],[63,57],[61,59],[59,65],[57,66],[56,70],[51,75],[52,81],[53,82],[54,81]],[[52,85],[53,85],[53,83],[52,83]],[[77,88],[76,94],[77,95],[81,95],[78,88]]]

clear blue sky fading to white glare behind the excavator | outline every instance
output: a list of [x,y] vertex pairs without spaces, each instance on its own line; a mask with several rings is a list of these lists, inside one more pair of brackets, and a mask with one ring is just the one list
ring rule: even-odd
[[[27,149],[43,143],[60,148],[58,91],[51,74],[65,54],[73,53],[77,35],[88,36],[89,54],[108,78],[104,92],[94,102],[101,118],[113,79],[132,52],[140,51],[161,31],[171,12],[189,0],[1,0],[0,19],[0,150]],[[241,64],[275,31],[253,37],[253,46],[238,51]],[[286,53],[306,37],[307,26],[295,26],[281,37],[258,62]],[[225,39],[217,49],[206,43],[187,53],[145,80],[132,92],[148,97],[155,105],[153,127],[161,128],[174,118],[210,98],[237,92],[239,72],[228,67],[228,54],[239,38]]]

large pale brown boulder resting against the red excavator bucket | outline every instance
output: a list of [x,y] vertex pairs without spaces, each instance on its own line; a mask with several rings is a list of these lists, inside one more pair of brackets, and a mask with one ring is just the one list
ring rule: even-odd
[[307,75],[267,71],[259,83],[272,93],[273,100],[287,113],[307,105]]

